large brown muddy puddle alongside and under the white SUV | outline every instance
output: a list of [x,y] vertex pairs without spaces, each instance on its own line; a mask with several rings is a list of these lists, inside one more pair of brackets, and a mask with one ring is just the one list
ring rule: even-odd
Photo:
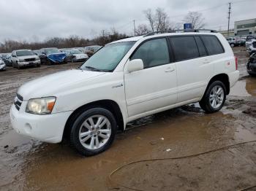
[[37,147],[18,156],[24,160],[21,172],[7,188],[105,190],[108,174],[132,160],[189,155],[229,144],[234,136],[231,118],[222,112],[204,114],[173,109],[148,117],[142,120],[143,125],[138,122],[138,128],[134,125],[132,130],[118,134],[108,151],[94,157],[80,157],[68,145]]

